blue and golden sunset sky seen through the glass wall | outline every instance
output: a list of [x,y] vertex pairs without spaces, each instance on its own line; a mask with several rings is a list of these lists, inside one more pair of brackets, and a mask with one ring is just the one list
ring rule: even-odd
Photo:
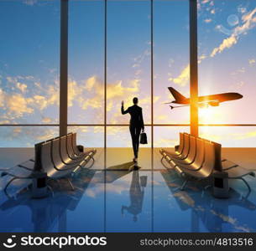
[[[128,124],[120,104],[138,96],[150,111],[150,1],[107,1],[107,124]],[[170,110],[168,86],[189,97],[189,1],[154,0],[154,123],[188,124]],[[59,123],[60,1],[0,0],[0,124]],[[256,124],[256,0],[198,1],[199,93],[242,100],[199,110],[206,124]],[[104,1],[70,0],[70,124],[104,122]],[[103,146],[103,127],[70,127],[86,146]],[[146,128],[148,135],[150,129]],[[174,146],[188,127],[154,127],[154,146]],[[223,146],[256,146],[256,126],[201,127]],[[0,126],[0,146],[33,146],[58,127]],[[130,146],[128,127],[108,127],[107,146]],[[150,141],[150,138],[149,138]],[[149,146],[149,145],[148,145]]]

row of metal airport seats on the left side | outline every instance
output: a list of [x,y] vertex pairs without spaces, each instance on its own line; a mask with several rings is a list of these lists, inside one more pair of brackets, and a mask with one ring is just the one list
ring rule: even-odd
[[[63,137],[65,138],[65,136]],[[11,169],[3,172],[2,176],[5,180],[4,192],[8,196],[7,189],[9,185],[15,180],[28,180],[29,184],[32,182],[33,173],[36,171],[47,172],[47,176],[51,179],[67,178],[71,174],[76,173],[80,168],[84,168],[88,161],[93,159],[96,150],[85,152],[85,154],[76,157],[76,161],[68,158],[67,148],[65,141],[60,145],[60,137],[51,139],[48,141],[43,141],[34,146],[34,161],[25,161],[24,163],[14,166]],[[60,146],[62,147],[62,155],[65,161],[61,159]],[[70,148],[70,146],[69,146]],[[66,152],[65,152],[66,151]],[[94,161],[94,159],[93,159]],[[18,168],[22,167],[22,168]],[[3,183],[3,178],[1,179]],[[72,189],[74,188],[71,181],[68,179]]]

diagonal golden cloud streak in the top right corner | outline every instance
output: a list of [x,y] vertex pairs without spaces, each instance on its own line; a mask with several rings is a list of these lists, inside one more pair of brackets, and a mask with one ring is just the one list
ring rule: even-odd
[[[238,39],[241,35],[245,35],[248,33],[248,30],[254,28],[256,24],[256,8],[254,8],[251,12],[245,13],[242,16],[243,24],[241,26],[237,26],[232,30],[232,34],[223,39],[222,43],[212,50],[211,57],[216,56],[216,54],[222,53],[225,49],[232,48],[233,45],[238,43]],[[217,26],[217,29],[221,29],[221,26]]]

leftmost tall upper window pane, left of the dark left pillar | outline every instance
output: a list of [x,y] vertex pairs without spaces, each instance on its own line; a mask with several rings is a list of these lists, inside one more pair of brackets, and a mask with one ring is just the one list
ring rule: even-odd
[[60,1],[1,1],[0,31],[0,124],[58,124]]

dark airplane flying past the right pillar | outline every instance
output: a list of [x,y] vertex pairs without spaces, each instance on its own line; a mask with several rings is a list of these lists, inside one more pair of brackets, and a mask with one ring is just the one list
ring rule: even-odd
[[[173,87],[168,87],[168,89],[170,90],[170,93],[173,95],[175,100],[168,103],[164,103],[164,104],[179,104],[179,106],[170,105],[171,109],[190,105],[191,99],[186,98],[184,95],[181,95],[180,92],[175,90]],[[198,105],[199,107],[205,107],[208,105],[219,106],[220,103],[222,102],[231,101],[231,100],[240,100],[242,98],[243,98],[243,95],[240,95],[239,93],[236,93],[236,92],[227,92],[227,93],[222,93],[217,95],[206,95],[206,96],[198,97]]]

